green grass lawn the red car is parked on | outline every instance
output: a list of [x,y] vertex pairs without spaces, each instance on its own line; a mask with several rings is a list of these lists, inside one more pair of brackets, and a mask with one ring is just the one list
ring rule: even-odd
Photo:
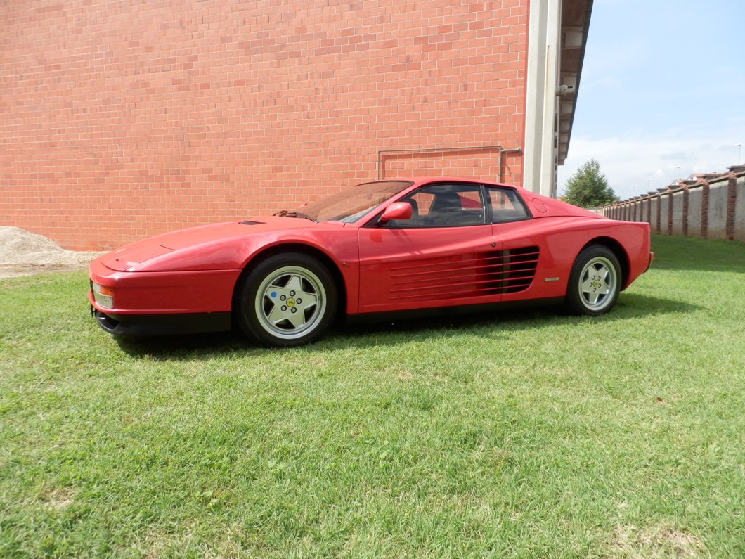
[[745,246],[600,318],[121,341],[0,280],[0,557],[745,556]]

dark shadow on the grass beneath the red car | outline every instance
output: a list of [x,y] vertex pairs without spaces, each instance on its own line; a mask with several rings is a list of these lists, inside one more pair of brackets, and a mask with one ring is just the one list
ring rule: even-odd
[[[320,341],[299,350],[328,352],[349,347],[364,349],[431,341],[433,338],[446,341],[448,338],[463,335],[498,340],[506,332],[533,330],[539,335],[544,328],[561,325],[569,327],[586,323],[588,320],[615,323],[619,320],[641,320],[654,315],[694,312],[698,309],[701,307],[679,300],[641,294],[621,294],[612,312],[597,317],[567,315],[561,307],[541,307],[395,321],[381,320],[362,324],[342,323],[333,327]],[[127,355],[169,361],[207,361],[225,355],[251,357],[297,350],[259,347],[235,331],[198,335],[118,336],[114,339]]]

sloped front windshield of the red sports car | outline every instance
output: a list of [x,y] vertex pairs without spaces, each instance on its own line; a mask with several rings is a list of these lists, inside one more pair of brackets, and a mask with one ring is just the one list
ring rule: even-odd
[[315,221],[354,223],[411,184],[403,180],[360,184],[339,194],[300,206],[297,213],[302,212],[304,216]]

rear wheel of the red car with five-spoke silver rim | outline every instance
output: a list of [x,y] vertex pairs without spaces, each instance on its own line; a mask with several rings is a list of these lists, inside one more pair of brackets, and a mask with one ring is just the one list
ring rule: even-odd
[[591,244],[571,267],[566,309],[573,315],[602,315],[615,305],[622,282],[621,265],[613,251]]

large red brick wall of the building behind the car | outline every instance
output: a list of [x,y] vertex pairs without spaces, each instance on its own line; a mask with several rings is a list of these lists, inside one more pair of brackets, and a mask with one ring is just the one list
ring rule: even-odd
[[[394,174],[521,183],[528,0],[4,0],[0,225],[65,247]],[[460,5],[464,4],[464,5]]]

